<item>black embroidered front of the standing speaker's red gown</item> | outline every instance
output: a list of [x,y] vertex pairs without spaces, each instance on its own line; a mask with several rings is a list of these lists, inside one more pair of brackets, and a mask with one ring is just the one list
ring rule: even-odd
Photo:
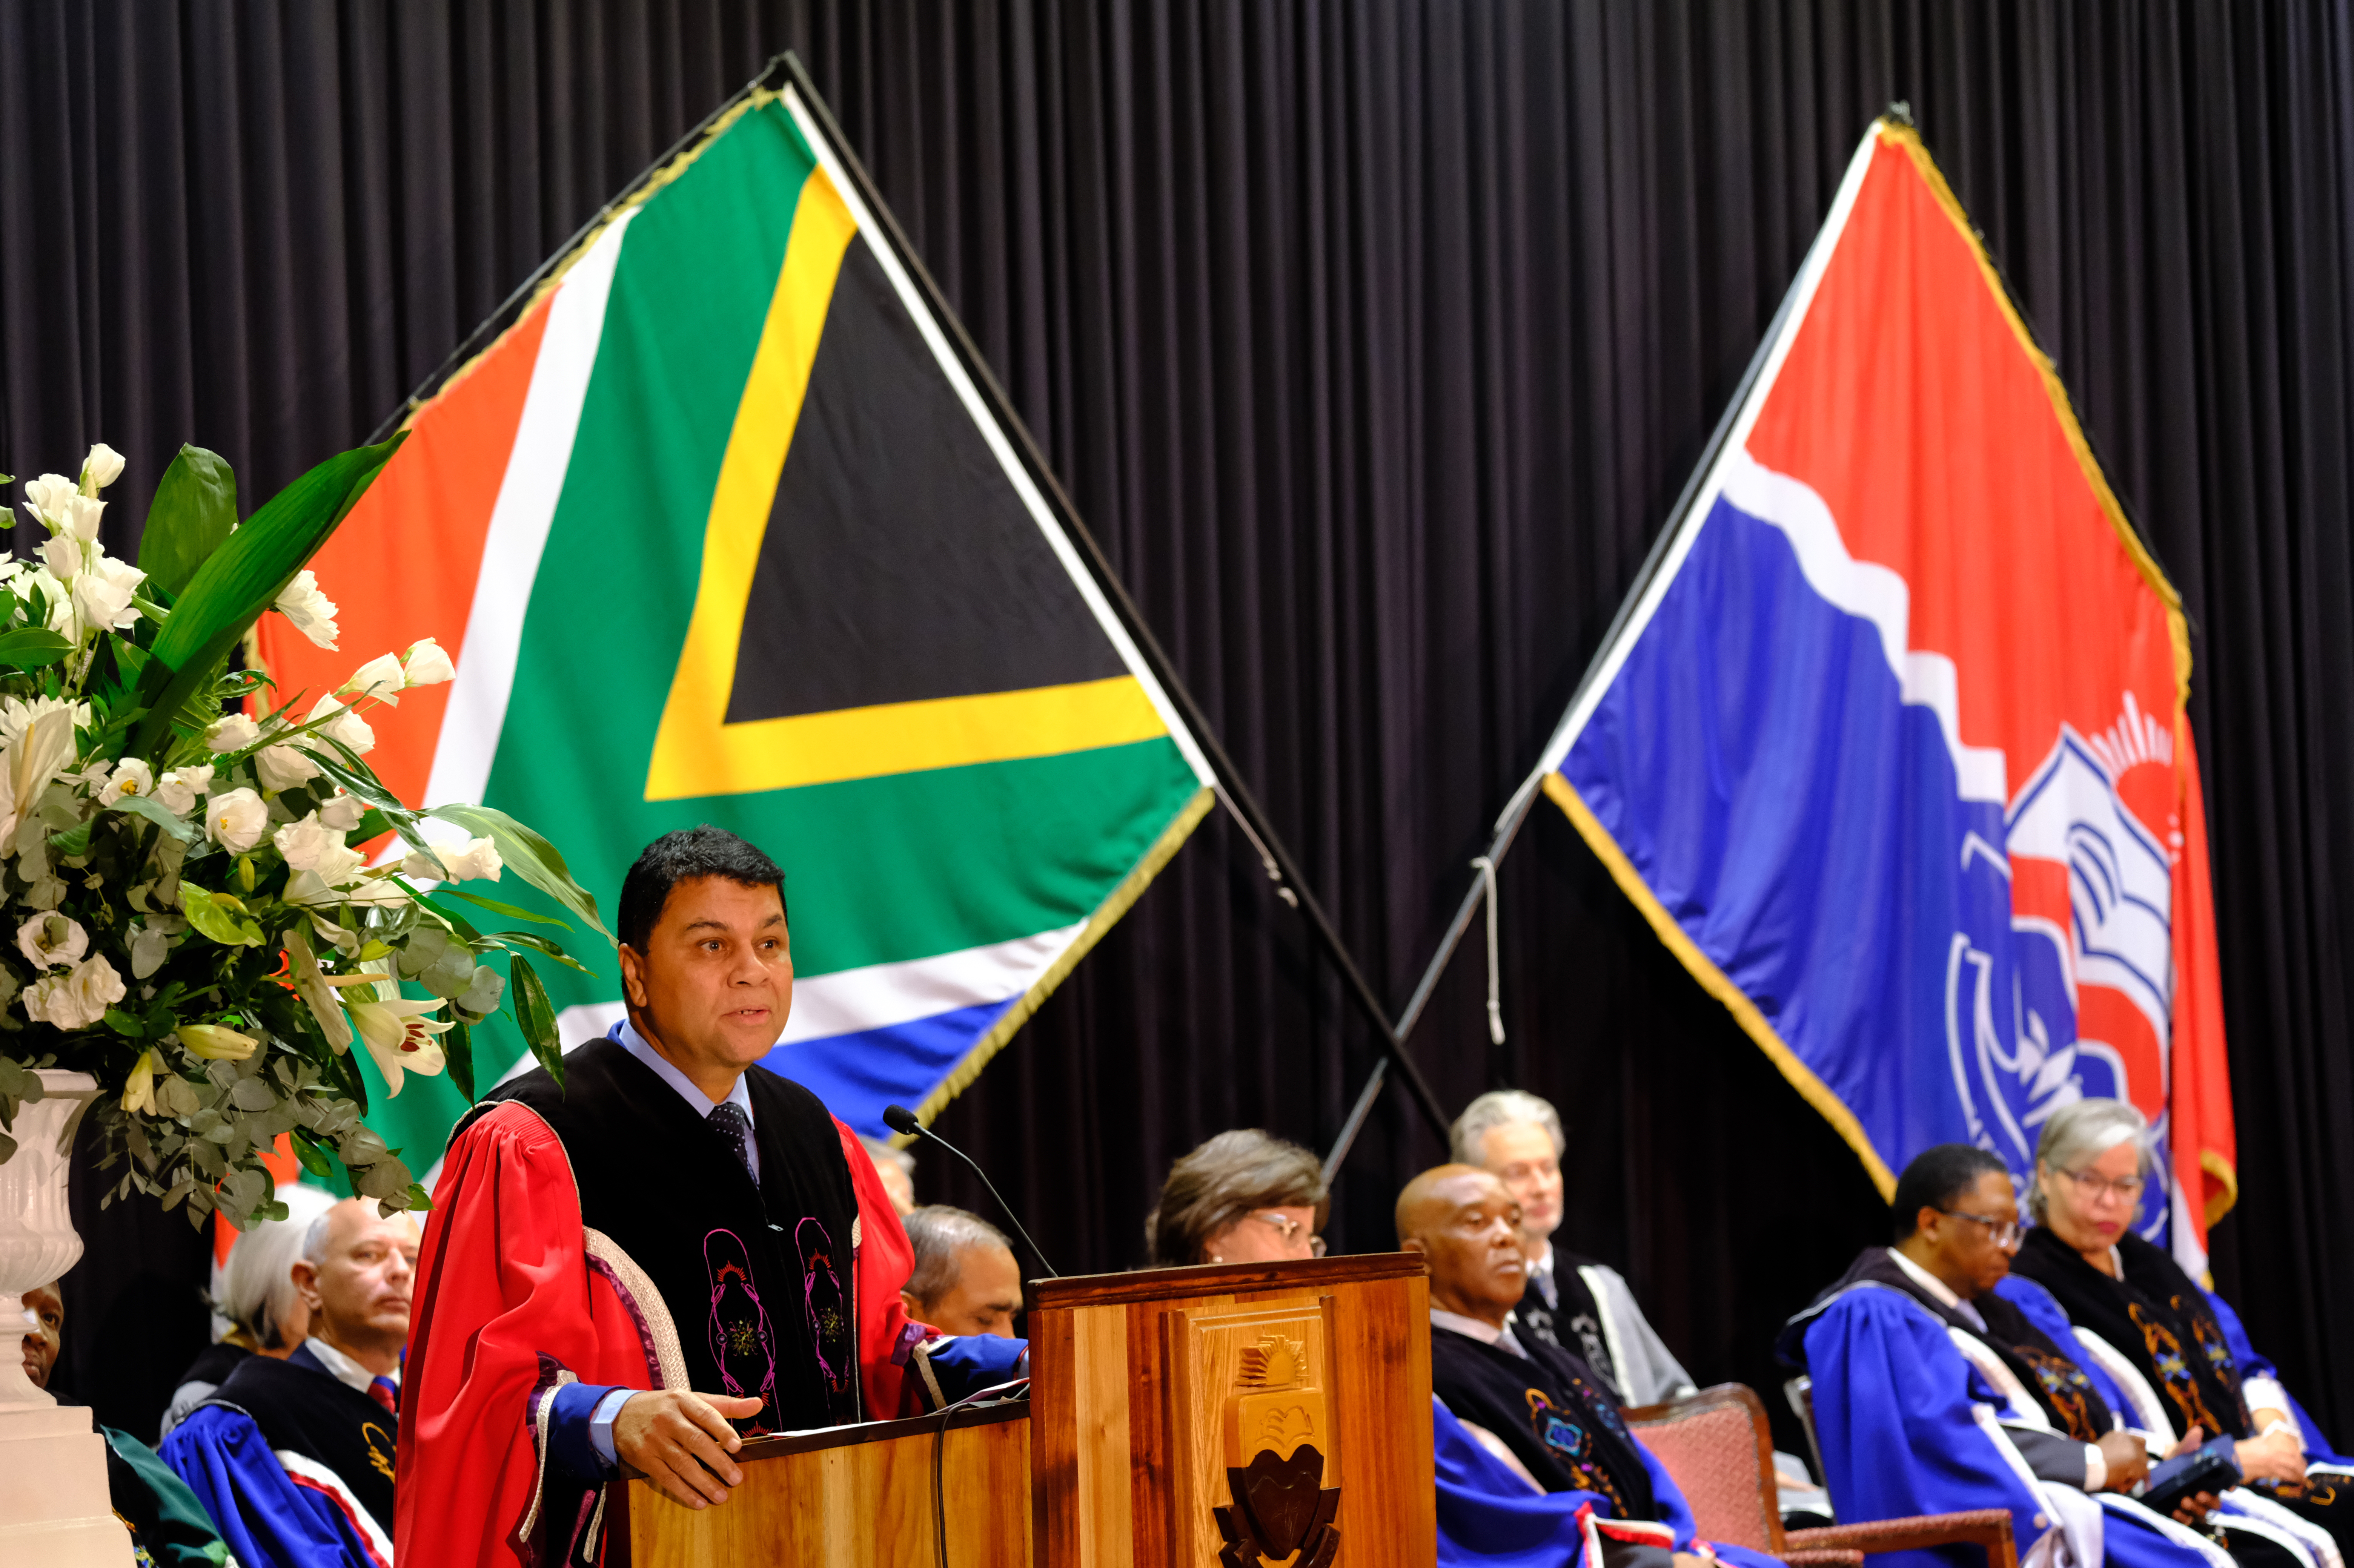
[[483,1102],[520,1102],[563,1140],[581,1224],[610,1236],[671,1309],[687,1387],[765,1401],[739,1431],[862,1420],[859,1201],[840,1135],[798,1083],[753,1067],[744,1085],[758,1187],[720,1132],[612,1038],[567,1052],[560,1090],[534,1069]]

